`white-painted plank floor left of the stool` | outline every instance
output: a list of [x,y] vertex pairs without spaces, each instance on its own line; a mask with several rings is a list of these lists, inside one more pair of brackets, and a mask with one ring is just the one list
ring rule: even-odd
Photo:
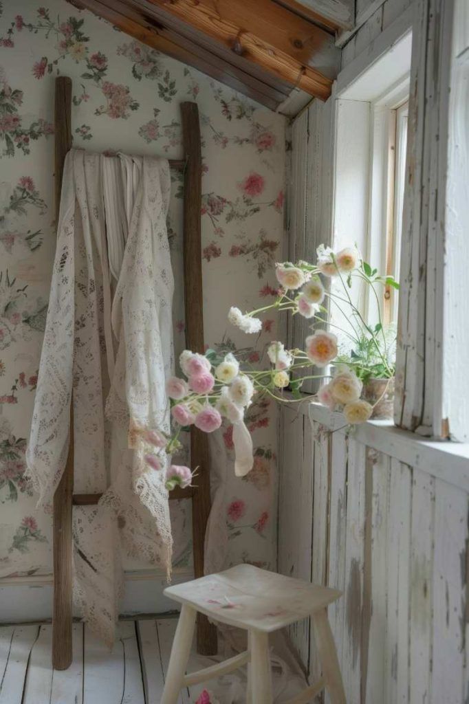
[[[111,652],[73,625],[73,662],[52,670],[51,625],[0,627],[0,704],[159,704],[177,619],[123,621]],[[188,670],[201,665],[192,655]],[[194,703],[201,685],[182,692]]]

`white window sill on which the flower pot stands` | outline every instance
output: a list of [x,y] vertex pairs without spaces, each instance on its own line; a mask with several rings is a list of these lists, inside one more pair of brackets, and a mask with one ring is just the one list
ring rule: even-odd
[[[320,403],[301,404],[304,415],[328,430],[345,432],[342,413],[332,413]],[[429,472],[469,492],[469,443],[433,441],[401,430],[392,420],[369,420],[357,425],[354,439],[411,467]]]

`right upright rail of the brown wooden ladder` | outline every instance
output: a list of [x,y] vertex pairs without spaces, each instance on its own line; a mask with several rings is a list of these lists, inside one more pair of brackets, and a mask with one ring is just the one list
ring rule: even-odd
[[[186,344],[193,352],[204,353],[204,297],[201,252],[202,156],[197,103],[181,103],[182,137],[187,165],[184,196],[184,281]],[[204,543],[211,508],[210,455],[208,436],[191,428],[191,462],[199,467],[197,491],[192,499],[194,575],[204,575]],[[197,616],[197,650],[203,655],[217,651],[216,629],[206,616]]]

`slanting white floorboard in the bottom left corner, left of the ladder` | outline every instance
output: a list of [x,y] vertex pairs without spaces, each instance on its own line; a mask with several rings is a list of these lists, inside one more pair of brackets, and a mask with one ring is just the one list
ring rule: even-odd
[[0,704],[20,704],[27,662],[39,635],[39,626],[17,626],[8,650],[4,677],[0,684]]

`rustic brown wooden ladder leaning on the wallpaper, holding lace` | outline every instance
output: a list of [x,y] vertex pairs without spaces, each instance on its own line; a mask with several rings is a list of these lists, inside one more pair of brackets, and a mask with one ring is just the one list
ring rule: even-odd
[[[184,284],[186,345],[204,352],[204,315],[201,265],[201,177],[202,158],[199,109],[196,103],[181,103],[185,158],[170,160],[170,168],[182,170],[184,189]],[[55,96],[55,195],[56,223],[61,201],[63,165],[72,147],[72,80],[56,78]],[[192,427],[191,463],[199,467],[197,486],[174,489],[171,499],[192,498],[192,542],[194,576],[204,575],[204,541],[210,498],[208,436]],[[52,662],[55,670],[66,670],[72,662],[72,511],[73,505],[96,505],[101,494],[73,494],[73,398],[70,401],[70,446],[65,470],[54,494],[54,615]],[[197,620],[197,650],[202,655],[217,651],[216,629],[204,615]]]

